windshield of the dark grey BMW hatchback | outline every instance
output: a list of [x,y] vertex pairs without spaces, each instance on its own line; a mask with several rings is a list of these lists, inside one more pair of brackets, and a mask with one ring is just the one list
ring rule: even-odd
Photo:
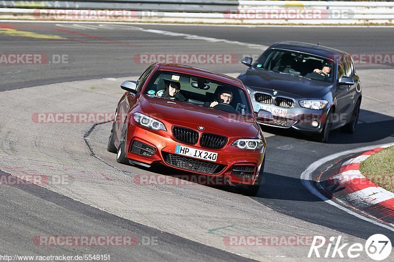
[[253,64],[274,72],[332,82],[333,61],[306,53],[282,49],[270,49]]

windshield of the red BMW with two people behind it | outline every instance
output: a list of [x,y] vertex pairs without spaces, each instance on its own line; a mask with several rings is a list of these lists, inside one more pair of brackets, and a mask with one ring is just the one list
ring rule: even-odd
[[158,99],[191,103],[210,110],[252,116],[248,96],[242,88],[208,78],[158,71],[143,93]]

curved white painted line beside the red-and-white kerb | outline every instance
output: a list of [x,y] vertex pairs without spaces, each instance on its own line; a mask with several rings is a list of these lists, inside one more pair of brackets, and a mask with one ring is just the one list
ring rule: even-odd
[[[385,225],[383,223],[377,222],[375,220],[372,220],[368,217],[362,216],[359,213],[356,213],[355,211],[352,211],[340,204],[337,204],[335,202],[333,202],[332,200],[329,200],[328,198],[326,198],[324,195],[322,195],[322,193],[319,192],[319,190],[314,186],[313,181],[312,181],[312,173],[321,165],[323,165],[324,163],[333,160],[335,158],[347,155],[347,154],[352,154],[352,153],[358,153],[361,151],[367,151],[367,150],[371,150],[374,149],[376,147],[383,147],[383,146],[392,146],[394,145],[394,143],[390,143],[390,144],[384,144],[384,145],[377,145],[377,146],[364,146],[364,147],[359,147],[359,148],[355,148],[355,149],[351,149],[351,150],[346,150],[343,152],[339,152],[339,153],[335,153],[335,154],[331,154],[328,155],[326,157],[323,157],[321,159],[319,159],[318,161],[310,164],[307,169],[302,172],[301,174],[301,182],[304,185],[304,187],[306,187],[313,195],[315,195],[316,197],[320,198],[321,200],[323,200],[324,202],[326,202],[327,204],[333,205],[339,209],[341,209],[342,211],[345,211],[346,213],[353,215],[357,218],[360,218],[362,220],[365,220],[369,223],[372,223],[374,225],[380,226],[382,228],[388,229],[390,231],[394,232],[394,228]],[[318,184],[318,186],[320,187],[320,184]],[[323,189],[323,188],[322,188]]]

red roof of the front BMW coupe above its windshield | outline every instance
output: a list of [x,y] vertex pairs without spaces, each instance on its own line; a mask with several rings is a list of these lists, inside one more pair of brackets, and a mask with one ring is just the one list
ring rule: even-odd
[[173,71],[178,73],[195,75],[195,76],[209,78],[218,82],[224,82],[230,85],[234,85],[236,87],[243,88],[243,84],[239,79],[215,71],[211,71],[191,65],[183,65],[183,64],[175,64],[175,63],[157,62],[156,64],[159,65],[158,70]]

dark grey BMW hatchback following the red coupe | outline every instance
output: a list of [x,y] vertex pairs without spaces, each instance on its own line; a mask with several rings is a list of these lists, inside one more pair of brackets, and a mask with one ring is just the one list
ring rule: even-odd
[[271,112],[263,125],[293,128],[326,143],[329,132],[354,133],[360,115],[361,83],[352,57],[319,44],[284,41],[271,45],[240,74],[254,112]]

